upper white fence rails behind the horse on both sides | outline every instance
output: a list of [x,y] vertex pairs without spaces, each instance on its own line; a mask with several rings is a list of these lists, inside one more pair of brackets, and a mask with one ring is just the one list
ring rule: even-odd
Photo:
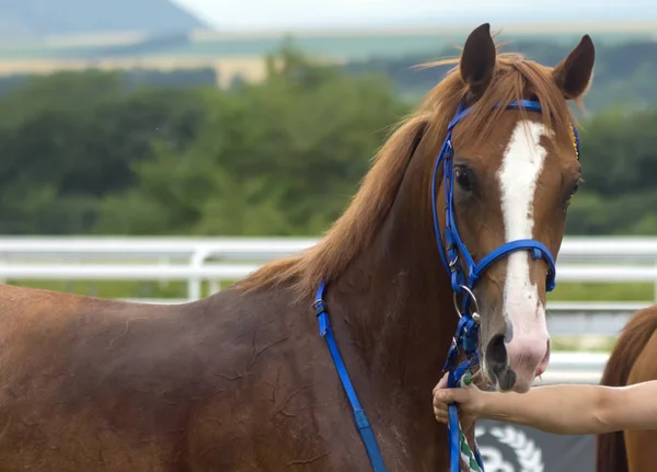
[[[262,264],[314,244],[311,238],[0,238],[0,280],[184,280],[184,300],[218,290]],[[657,238],[566,238],[560,283],[650,283],[657,300]],[[554,334],[614,335],[644,302],[551,302]]]

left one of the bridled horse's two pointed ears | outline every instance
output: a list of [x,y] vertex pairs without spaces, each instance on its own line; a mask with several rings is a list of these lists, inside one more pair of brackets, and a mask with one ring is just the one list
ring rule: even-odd
[[484,23],[470,33],[461,54],[461,77],[473,99],[479,99],[491,83],[496,56],[491,24]]

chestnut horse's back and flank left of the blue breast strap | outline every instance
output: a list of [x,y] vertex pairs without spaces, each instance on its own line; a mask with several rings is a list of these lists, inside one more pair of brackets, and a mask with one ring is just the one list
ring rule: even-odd
[[335,470],[325,441],[361,445],[313,322],[272,293],[155,306],[2,286],[0,470]]

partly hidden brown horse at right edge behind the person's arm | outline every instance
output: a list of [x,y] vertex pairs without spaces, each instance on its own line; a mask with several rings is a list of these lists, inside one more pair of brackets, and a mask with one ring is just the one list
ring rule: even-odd
[[[625,324],[600,383],[625,387],[657,380],[657,306],[637,311]],[[632,430],[598,436],[597,472],[638,472],[657,464],[657,431]]]

